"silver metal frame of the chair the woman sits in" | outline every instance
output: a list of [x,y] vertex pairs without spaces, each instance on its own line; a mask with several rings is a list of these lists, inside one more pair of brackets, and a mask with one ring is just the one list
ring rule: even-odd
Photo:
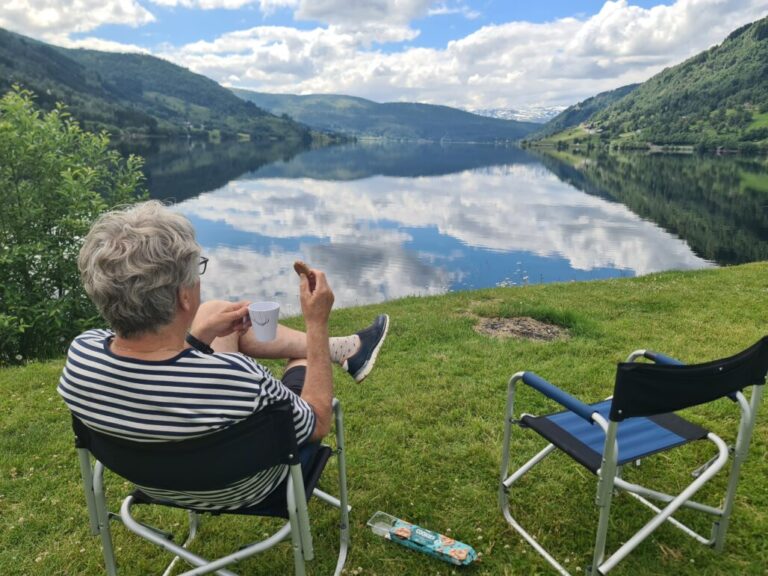
[[[347,553],[350,546],[349,532],[349,512],[352,508],[347,503],[347,470],[344,445],[344,417],[341,404],[338,399],[333,400],[333,414],[335,421],[336,447],[334,449],[339,482],[339,497],[336,498],[322,490],[315,488],[313,495],[327,504],[339,509],[339,554],[334,574],[340,575],[346,562]],[[189,551],[190,543],[197,535],[200,512],[188,510],[189,529],[184,543],[178,545],[172,541],[173,534],[165,532],[158,528],[143,524],[137,521],[131,514],[131,507],[134,505],[133,494],[127,496],[120,506],[119,513],[110,512],[107,507],[106,494],[104,487],[104,465],[95,459],[87,448],[77,448],[80,462],[80,473],[83,480],[83,489],[85,493],[86,505],[88,508],[88,519],[90,531],[93,536],[100,536],[104,563],[108,576],[117,576],[117,563],[115,560],[114,547],[112,545],[112,533],[110,529],[110,520],[119,520],[131,532],[142,538],[164,548],[175,555],[174,559],[163,572],[164,576],[171,573],[179,559],[187,561],[193,566],[180,576],[198,576],[215,572],[219,576],[237,576],[234,572],[227,570],[225,566],[237,562],[259,552],[272,548],[282,542],[289,536],[292,541],[294,569],[296,576],[306,574],[305,562],[314,559],[314,545],[312,542],[312,533],[310,530],[309,513],[307,507],[307,498],[304,487],[304,478],[301,465],[299,463],[290,466],[287,488],[287,508],[289,518],[278,530],[271,536],[247,546],[240,550],[223,556],[214,561],[209,561],[202,556]],[[221,514],[226,514],[222,511]]]

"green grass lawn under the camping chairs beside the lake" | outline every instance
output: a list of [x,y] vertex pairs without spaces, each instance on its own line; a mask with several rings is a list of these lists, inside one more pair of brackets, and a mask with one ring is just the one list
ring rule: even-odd
[[[347,574],[551,574],[503,520],[496,503],[502,418],[509,376],[523,369],[585,401],[611,392],[615,363],[636,348],[652,348],[694,362],[736,352],[766,333],[768,264],[718,270],[670,272],[634,279],[563,283],[406,298],[377,306],[338,310],[332,332],[348,333],[380,311],[392,318],[376,370],[360,385],[337,373],[336,395],[345,411],[352,549]],[[500,340],[473,330],[478,317],[528,315],[557,322],[570,338],[551,343]],[[300,320],[291,323],[300,325]],[[0,371],[0,573],[8,575],[99,574],[101,553],[89,535],[68,415],[55,388],[62,361]],[[541,412],[551,403],[520,390],[518,405]],[[690,411],[713,420],[723,434],[734,406]],[[616,575],[764,574],[768,562],[768,419],[759,418],[750,458],[743,468],[735,512],[723,554],[663,526],[611,572]],[[730,436],[728,436],[730,439]],[[539,448],[516,435],[513,463]],[[686,449],[697,453],[698,448]],[[685,454],[684,456],[693,456]],[[706,458],[704,458],[706,459]],[[677,465],[676,474],[665,466]],[[629,479],[673,489],[688,481],[695,462],[658,456]],[[520,518],[574,573],[590,560],[596,519],[590,474],[556,458],[529,475],[513,494]],[[569,481],[566,484],[566,480]],[[723,479],[718,481],[718,487]],[[324,487],[333,490],[331,483]],[[108,477],[110,500],[124,483]],[[705,489],[700,499],[717,504]],[[377,510],[465,541],[482,554],[461,570],[375,536],[366,520]],[[609,547],[623,542],[648,516],[627,497]],[[329,574],[335,563],[334,515],[313,502],[318,557],[310,568]],[[688,514],[684,515],[688,518]],[[178,512],[161,512],[156,524],[183,524]],[[262,522],[204,519],[202,553],[224,553],[260,536]],[[707,522],[694,519],[708,533]],[[271,526],[271,525],[270,525]],[[114,526],[121,575],[158,573],[166,555],[119,525]],[[244,574],[289,574],[288,544],[244,561]]]

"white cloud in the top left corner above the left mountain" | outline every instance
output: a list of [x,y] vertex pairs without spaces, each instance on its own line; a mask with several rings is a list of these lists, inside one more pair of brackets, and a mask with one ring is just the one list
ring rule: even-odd
[[11,0],[0,7],[0,27],[57,44],[103,24],[137,27],[154,20],[137,0]]

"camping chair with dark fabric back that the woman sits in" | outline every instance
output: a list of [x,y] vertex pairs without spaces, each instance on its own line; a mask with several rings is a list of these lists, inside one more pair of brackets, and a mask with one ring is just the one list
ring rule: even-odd
[[[115,576],[117,567],[109,527],[110,519],[119,519],[130,531],[176,555],[165,575],[170,574],[179,558],[194,568],[184,576],[216,572],[220,576],[236,576],[224,567],[253,554],[267,550],[289,535],[293,545],[295,573],[305,574],[305,561],[314,557],[307,500],[314,494],[340,510],[340,548],[335,574],[341,574],[349,547],[349,510],[347,506],[346,464],[344,460],[344,427],[341,405],[333,401],[338,456],[339,499],[316,488],[333,450],[320,446],[309,467],[302,473],[299,450],[289,401],[281,401],[225,428],[222,431],[178,442],[134,442],[103,434],[86,427],[73,416],[75,444],[80,458],[91,532],[101,536],[107,574]],[[91,465],[91,456],[95,465]],[[107,509],[103,471],[107,468],[119,476],[142,486],[161,490],[213,490],[260,470],[289,465],[287,482],[267,499],[251,508],[215,511],[215,514],[245,514],[287,518],[288,521],[264,540],[248,544],[238,551],[209,561],[188,550],[194,539],[199,515],[207,510],[187,508],[189,533],[182,545],[172,541],[173,535],[138,522],[131,514],[133,506],[153,504],[180,508],[151,498],[141,490],[127,496],[114,514]]]

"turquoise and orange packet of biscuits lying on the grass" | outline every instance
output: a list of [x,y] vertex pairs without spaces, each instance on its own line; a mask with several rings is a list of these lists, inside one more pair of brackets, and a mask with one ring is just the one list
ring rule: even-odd
[[477,559],[477,553],[471,546],[385,512],[376,512],[371,516],[368,526],[374,534],[387,540],[456,566],[466,566]]

